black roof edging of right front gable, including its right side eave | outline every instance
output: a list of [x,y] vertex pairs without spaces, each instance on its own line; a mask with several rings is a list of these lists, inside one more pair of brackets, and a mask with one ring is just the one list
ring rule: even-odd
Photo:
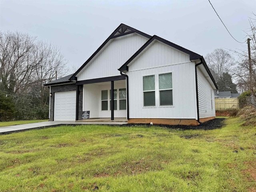
[[192,52],[192,51],[190,51],[186,48],[183,48],[183,47],[181,47],[177,44],[174,44],[174,43],[172,43],[168,40],[165,40],[163,38],[160,38],[156,35],[152,36],[152,38],[150,38],[137,52],[135,52],[118,70],[122,71],[122,72],[129,71],[129,68],[128,68],[127,65],[130,62],[132,62],[132,60],[134,60],[138,55],[140,55],[140,53],[143,52],[143,50],[145,50],[148,46],[150,46],[152,44],[152,42],[154,42],[156,40],[158,40],[159,42],[162,42],[162,43],[164,43],[168,46],[171,46],[171,47],[173,47],[177,50],[180,50],[181,52],[184,52],[184,53],[188,54],[190,56],[190,60],[201,60],[203,66],[204,66],[206,72],[209,74],[214,86],[216,87],[216,89],[218,88],[218,86],[217,86],[217,84],[216,84],[216,82],[215,82],[215,80],[214,80],[214,78],[213,78],[213,76],[212,76],[212,74],[211,74],[203,56],[200,56],[199,54],[197,54],[195,52]]

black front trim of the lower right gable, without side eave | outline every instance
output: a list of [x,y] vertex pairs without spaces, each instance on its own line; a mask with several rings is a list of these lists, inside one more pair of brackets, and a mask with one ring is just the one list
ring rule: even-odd
[[128,71],[128,66],[127,65],[130,62],[132,62],[132,60],[134,58],[136,58],[136,56],[138,56],[154,40],[158,40],[158,41],[160,41],[160,42],[162,42],[162,43],[164,43],[166,45],[169,45],[169,46],[171,46],[171,47],[173,47],[175,49],[178,49],[178,50],[188,54],[190,56],[190,60],[197,60],[197,59],[200,59],[200,57],[201,57],[199,54],[197,54],[195,52],[192,52],[192,51],[190,51],[188,49],[185,49],[185,48],[183,48],[181,46],[178,46],[178,45],[176,45],[176,44],[174,44],[174,43],[172,43],[170,41],[167,41],[167,40],[165,40],[163,38],[160,38],[160,37],[154,35],[136,53],[134,53],[134,55],[130,59],[128,59],[118,70],[120,70],[120,71]]

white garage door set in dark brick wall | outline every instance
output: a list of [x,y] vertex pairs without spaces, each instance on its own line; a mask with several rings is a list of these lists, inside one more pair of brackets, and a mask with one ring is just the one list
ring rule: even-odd
[[76,91],[54,93],[54,121],[76,120]]

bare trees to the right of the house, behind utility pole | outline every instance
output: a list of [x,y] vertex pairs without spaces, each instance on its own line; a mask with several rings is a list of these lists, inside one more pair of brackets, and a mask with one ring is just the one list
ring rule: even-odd
[[[205,60],[216,80],[218,90],[231,91],[231,93],[246,92],[245,95],[249,96],[246,101],[256,107],[256,15],[253,14],[248,21],[250,28],[244,32],[245,42],[247,38],[250,39],[251,74],[247,45],[244,50],[215,49],[206,55]],[[232,54],[236,55],[236,60]]]

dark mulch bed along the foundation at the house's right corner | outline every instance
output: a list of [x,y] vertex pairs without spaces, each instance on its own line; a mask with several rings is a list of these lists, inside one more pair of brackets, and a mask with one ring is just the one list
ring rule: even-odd
[[[180,130],[213,130],[213,129],[220,129],[224,125],[225,118],[216,118],[213,120],[206,121],[200,125],[197,126],[190,126],[190,125],[157,125],[154,124],[154,126],[160,126],[164,128],[170,128],[170,129],[180,129]],[[150,124],[125,124],[122,126],[152,126]]]

